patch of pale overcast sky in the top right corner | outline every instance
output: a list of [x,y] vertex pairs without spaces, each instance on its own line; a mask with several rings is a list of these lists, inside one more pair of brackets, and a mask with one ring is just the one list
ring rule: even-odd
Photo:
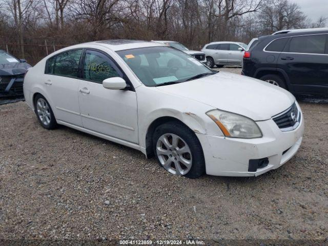
[[316,22],[320,16],[328,17],[327,0],[291,0],[291,2],[297,3],[313,22]]

